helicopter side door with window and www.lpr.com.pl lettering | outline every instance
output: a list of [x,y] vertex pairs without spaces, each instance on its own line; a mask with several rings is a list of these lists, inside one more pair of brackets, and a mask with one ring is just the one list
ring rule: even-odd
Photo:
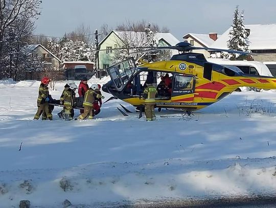
[[193,75],[175,74],[172,84],[172,102],[193,102],[195,82],[196,78]]

